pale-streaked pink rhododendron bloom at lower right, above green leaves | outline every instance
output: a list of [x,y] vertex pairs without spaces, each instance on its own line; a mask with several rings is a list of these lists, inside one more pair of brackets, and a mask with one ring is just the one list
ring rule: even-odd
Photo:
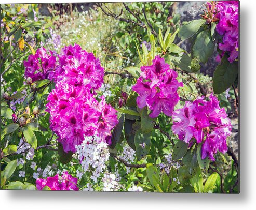
[[179,139],[193,143],[192,138],[202,145],[202,159],[209,157],[212,161],[218,151],[227,152],[226,138],[231,135],[232,125],[224,108],[220,108],[217,97],[211,95],[209,100],[199,97],[177,109],[172,115],[172,131]]

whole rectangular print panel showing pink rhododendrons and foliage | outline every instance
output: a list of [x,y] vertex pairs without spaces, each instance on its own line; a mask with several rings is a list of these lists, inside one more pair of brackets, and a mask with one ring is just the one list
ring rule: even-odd
[[1,4],[1,189],[239,193],[239,2]]

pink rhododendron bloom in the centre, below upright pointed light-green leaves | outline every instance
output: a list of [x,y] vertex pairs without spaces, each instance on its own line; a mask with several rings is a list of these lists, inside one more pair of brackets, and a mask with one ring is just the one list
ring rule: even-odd
[[139,108],[145,106],[152,110],[150,117],[157,117],[160,112],[171,116],[174,106],[179,102],[177,93],[182,82],[176,79],[178,74],[170,69],[164,58],[156,56],[152,66],[142,66],[141,76],[132,87],[138,93],[137,105]]

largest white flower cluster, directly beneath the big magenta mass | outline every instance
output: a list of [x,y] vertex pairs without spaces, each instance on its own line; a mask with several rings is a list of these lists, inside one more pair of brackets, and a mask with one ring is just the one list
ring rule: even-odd
[[85,172],[90,171],[92,172],[90,178],[94,182],[97,182],[101,173],[105,171],[105,163],[110,157],[107,143],[96,143],[96,138],[98,137],[85,137],[83,143],[76,146],[76,154],[74,155],[82,166],[82,171],[77,171],[77,177],[80,178]]

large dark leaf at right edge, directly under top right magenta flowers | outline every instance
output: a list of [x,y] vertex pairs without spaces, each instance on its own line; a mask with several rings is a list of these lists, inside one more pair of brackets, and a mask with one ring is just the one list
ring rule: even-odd
[[227,55],[221,59],[221,63],[217,66],[213,74],[213,91],[215,94],[224,92],[230,87],[238,76],[238,62],[230,63]]

